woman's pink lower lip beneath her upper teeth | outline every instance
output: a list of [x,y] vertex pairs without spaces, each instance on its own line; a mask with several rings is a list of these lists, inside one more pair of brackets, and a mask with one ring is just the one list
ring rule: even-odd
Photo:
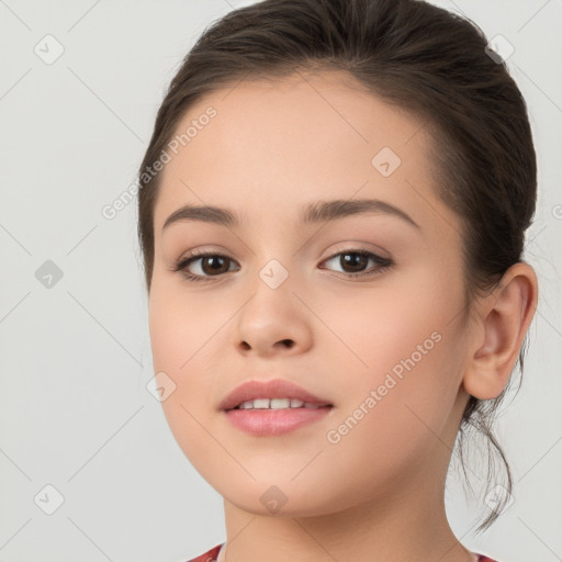
[[251,435],[267,437],[294,431],[324,418],[331,406],[319,408],[229,409],[226,415],[234,427]]

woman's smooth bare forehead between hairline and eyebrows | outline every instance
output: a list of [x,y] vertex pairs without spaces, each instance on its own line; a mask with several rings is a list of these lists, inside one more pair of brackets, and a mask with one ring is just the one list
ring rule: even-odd
[[215,90],[189,109],[170,142],[156,231],[186,203],[289,214],[315,200],[378,198],[416,218],[427,211],[420,194],[434,198],[423,121],[342,72]]

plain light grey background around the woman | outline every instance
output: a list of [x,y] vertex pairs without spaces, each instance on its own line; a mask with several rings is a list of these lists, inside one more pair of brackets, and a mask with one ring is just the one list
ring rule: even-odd
[[[468,548],[502,562],[560,561],[562,1],[436,3],[515,46],[507,64],[529,105],[540,180],[526,252],[539,307],[524,385],[498,429],[515,501],[475,537],[483,498],[465,499],[453,475],[448,515]],[[134,181],[182,57],[241,4],[0,0],[2,562],[179,562],[225,538],[222,498],[146,389],[136,202],[111,221],[101,209]],[[34,52],[47,34],[65,49],[53,64]],[[36,273],[54,270],[48,260],[63,274],[50,288]],[[47,484],[64,496],[52,515],[43,510],[56,497]]]

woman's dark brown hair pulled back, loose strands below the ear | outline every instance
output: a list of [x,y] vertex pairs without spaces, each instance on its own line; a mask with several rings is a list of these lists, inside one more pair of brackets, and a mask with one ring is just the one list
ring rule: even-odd
[[[139,168],[138,237],[148,292],[160,173],[143,172],[158,160],[189,108],[244,78],[344,70],[422,117],[431,134],[437,192],[463,225],[468,318],[475,296],[495,289],[521,260],[537,198],[526,103],[505,63],[488,56],[486,45],[473,22],[422,0],[265,0],[214,22],[171,80]],[[521,373],[526,345],[527,336],[518,358]],[[470,397],[457,442],[467,476],[464,431],[483,434],[488,453],[497,452],[505,467],[508,494],[509,464],[491,425],[509,384],[493,401]],[[477,531],[492,525],[507,498]]]

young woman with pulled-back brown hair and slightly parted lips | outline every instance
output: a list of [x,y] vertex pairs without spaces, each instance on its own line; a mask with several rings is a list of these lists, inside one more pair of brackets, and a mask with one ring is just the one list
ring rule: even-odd
[[138,232],[165,414],[224,497],[226,541],[196,561],[492,560],[443,488],[463,429],[503,458],[537,170],[486,45],[423,1],[266,0],[171,81]]

